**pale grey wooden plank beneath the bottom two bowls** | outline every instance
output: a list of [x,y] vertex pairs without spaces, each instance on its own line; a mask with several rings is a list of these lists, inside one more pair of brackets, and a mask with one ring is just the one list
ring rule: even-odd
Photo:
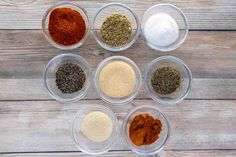
[[[76,112],[86,104],[111,108],[120,124],[126,113],[139,105],[160,108],[171,123],[172,134],[165,150],[234,149],[236,101],[186,100],[176,106],[139,100],[125,106],[102,101],[60,104],[55,101],[0,102],[0,152],[77,151],[70,135]],[[121,137],[121,136],[120,136]],[[129,150],[119,138],[112,150]]]

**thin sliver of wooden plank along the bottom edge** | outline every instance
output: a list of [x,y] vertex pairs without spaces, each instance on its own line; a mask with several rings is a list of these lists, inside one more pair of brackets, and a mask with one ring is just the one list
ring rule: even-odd
[[[1,156],[1,155],[0,155]],[[81,152],[67,152],[67,153],[13,153],[13,154],[3,154],[3,157],[92,157],[87,154]],[[129,157],[141,157],[140,155],[134,154],[130,151],[112,151],[108,152],[103,157],[121,157],[121,156],[129,156]],[[166,150],[162,151],[159,154],[160,157],[235,157],[235,150],[201,150],[201,151],[175,151],[175,150]],[[157,157],[155,155],[149,157]]]

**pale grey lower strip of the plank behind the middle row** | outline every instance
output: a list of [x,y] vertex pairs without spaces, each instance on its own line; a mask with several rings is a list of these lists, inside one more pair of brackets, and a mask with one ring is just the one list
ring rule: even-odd
[[[235,79],[193,79],[187,99],[236,99]],[[42,79],[0,79],[0,100],[52,100]],[[136,97],[149,98],[144,81]],[[99,99],[91,86],[84,99]]]

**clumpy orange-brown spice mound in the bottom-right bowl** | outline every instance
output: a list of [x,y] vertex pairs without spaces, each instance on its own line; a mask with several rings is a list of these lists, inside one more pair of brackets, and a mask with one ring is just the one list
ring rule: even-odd
[[162,123],[149,114],[135,116],[129,127],[129,137],[136,146],[150,145],[158,138],[162,130]]

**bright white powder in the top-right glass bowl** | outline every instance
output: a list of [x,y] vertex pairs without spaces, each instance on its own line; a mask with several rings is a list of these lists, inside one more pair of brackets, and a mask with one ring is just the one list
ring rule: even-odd
[[170,15],[157,13],[147,19],[144,25],[144,35],[151,44],[165,47],[177,40],[179,27]]

